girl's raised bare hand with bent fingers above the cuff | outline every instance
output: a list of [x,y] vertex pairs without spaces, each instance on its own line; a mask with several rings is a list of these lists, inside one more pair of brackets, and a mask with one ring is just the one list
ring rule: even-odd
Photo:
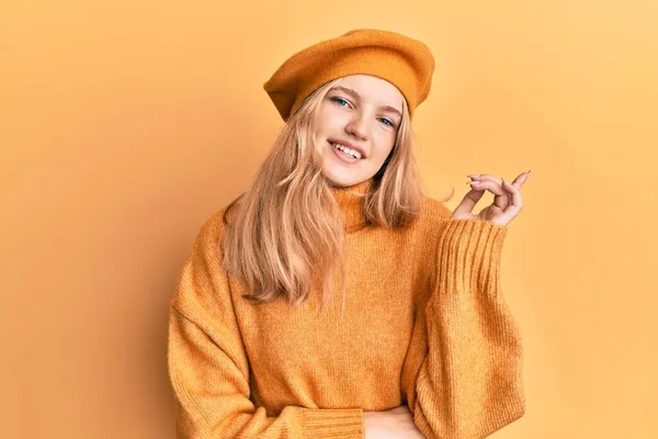
[[[486,173],[473,175],[470,191],[466,193],[464,200],[453,212],[453,219],[485,219],[501,226],[507,226],[523,209],[521,199],[521,187],[527,180],[530,171],[521,173],[511,183]],[[494,203],[483,209],[477,215],[473,214],[473,209],[483,198],[485,191],[494,194]]]

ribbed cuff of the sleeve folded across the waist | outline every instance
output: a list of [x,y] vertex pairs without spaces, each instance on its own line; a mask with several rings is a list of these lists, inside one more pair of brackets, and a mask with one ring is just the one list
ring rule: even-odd
[[317,439],[363,439],[363,409],[313,409],[302,413],[304,437]]

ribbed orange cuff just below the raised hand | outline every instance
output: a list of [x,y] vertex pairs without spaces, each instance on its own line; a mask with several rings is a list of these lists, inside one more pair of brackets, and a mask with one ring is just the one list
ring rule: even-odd
[[441,291],[497,294],[507,226],[485,219],[446,219],[439,234]]

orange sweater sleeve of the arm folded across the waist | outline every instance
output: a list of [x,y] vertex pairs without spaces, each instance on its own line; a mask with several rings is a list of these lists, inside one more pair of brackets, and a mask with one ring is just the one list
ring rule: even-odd
[[250,399],[249,360],[219,263],[220,224],[206,222],[171,302],[168,371],[179,438],[362,439],[363,410],[286,406],[277,416]]

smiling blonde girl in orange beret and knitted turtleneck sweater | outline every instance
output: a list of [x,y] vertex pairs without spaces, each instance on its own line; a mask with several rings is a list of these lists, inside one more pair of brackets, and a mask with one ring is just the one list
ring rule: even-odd
[[433,70],[421,42],[358,30],[265,82],[286,124],[171,302],[179,437],[483,438],[523,415],[499,271],[527,172],[469,176],[454,212],[426,195],[410,124]]

